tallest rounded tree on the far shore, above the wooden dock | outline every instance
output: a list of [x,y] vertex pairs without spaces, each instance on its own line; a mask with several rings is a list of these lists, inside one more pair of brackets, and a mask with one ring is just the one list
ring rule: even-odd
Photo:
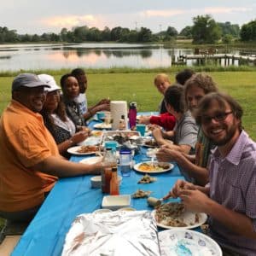
[[210,15],[198,15],[193,18],[193,43],[214,44],[221,38],[221,29]]

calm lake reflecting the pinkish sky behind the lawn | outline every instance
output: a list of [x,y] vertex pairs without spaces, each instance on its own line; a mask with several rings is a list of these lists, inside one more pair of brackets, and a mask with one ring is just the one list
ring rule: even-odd
[[[194,49],[164,48],[162,44],[0,44],[0,72],[74,67],[170,67],[179,55],[193,53]],[[187,65],[196,65],[196,61],[190,60]]]

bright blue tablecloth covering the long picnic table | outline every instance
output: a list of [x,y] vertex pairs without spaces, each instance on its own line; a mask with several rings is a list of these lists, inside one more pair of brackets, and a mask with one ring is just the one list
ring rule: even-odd
[[[140,154],[135,155],[136,163],[145,158],[146,150],[147,148],[142,148]],[[71,158],[75,162],[83,159],[83,156]],[[90,187],[90,177],[92,176],[60,178],[11,255],[61,255],[65,236],[74,218],[81,213],[101,208],[104,195],[101,189]],[[137,181],[141,177],[143,173],[135,171],[131,172],[130,177],[123,177],[120,194],[131,195],[137,189],[143,189],[150,190],[153,192],[152,196],[161,198],[178,178],[183,178],[176,165],[171,172],[157,174],[157,181],[154,183],[138,184]],[[137,210],[152,210],[148,207],[146,199],[132,199],[131,207]]]

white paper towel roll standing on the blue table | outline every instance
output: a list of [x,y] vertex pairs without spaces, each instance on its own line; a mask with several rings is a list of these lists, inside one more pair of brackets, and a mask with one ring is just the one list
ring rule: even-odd
[[128,129],[127,119],[127,102],[124,101],[112,101],[110,102],[110,112],[113,118],[112,130],[119,129],[119,120],[122,115],[125,116],[125,130]]

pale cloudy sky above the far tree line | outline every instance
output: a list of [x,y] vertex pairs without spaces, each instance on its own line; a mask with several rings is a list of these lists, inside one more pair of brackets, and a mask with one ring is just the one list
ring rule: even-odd
[[1,0],[0,26],[18,33],[61,32],[62,27],[108,26],[179,32],[196,15],[242,25],[256,19],[255,0]]

